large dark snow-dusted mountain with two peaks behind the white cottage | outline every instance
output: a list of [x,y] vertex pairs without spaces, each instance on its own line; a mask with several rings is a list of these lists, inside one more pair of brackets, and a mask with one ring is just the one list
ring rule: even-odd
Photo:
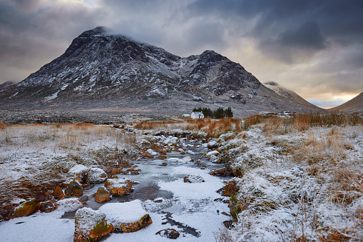
[[104,27],[83,32],[65,53],[0,91],[0,109],[133,109],[188,114],[196,106],[232,110],[319,111],[263,86],[215,51],[180,57]]

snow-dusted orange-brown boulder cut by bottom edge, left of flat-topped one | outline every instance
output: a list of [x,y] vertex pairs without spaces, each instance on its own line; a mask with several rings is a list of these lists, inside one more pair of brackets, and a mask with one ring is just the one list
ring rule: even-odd
[[78,209],[74,221],[74,242],[98,241],[113,231],[113,226],[108,223],[105,214],[92,208]]

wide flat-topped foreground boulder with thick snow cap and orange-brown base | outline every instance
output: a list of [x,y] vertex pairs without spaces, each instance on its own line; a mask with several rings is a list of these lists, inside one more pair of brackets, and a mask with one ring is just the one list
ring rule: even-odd
[[107,203],[98,211],[106,214],[113,225],[113,233],[131,233],[153,223],[140,200],[126,203]]

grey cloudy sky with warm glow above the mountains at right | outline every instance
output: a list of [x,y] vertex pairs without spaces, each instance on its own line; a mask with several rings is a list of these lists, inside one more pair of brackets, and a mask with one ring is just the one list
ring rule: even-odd
[[0,0],[0,84],[96,26],[179,56],[213,49],[322,107],[363,92],[362,0]]

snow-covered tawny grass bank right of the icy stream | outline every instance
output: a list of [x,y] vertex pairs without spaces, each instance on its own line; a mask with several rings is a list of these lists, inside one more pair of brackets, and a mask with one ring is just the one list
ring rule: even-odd
[[[278,134],[257,125],[227,142],[240,206],[232,241],[363,240],[363,128]],[[281,133],[281,132],[280,132]]]

